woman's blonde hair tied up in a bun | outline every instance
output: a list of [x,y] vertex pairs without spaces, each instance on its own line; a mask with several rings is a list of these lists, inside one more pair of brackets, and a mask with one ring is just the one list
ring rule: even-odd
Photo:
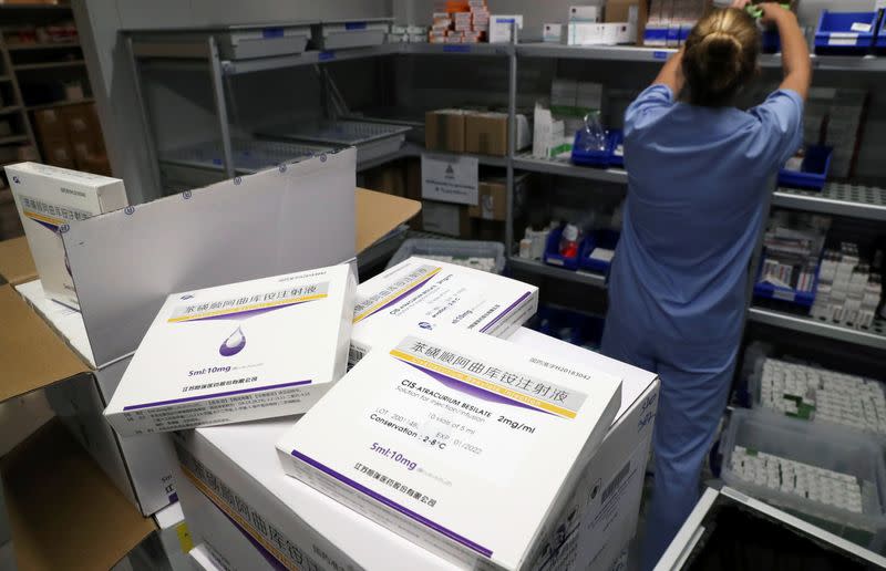
[[729,105],[756,73],[760,32],[743,10],[714,10],[686,41],[683,75],[693,105]]

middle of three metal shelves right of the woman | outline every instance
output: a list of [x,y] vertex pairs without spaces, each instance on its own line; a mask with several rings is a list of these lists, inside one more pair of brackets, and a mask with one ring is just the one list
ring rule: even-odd
[[823,190],[779,188],[772,205],[811,212],[886,221],[886,189],[828,183]]

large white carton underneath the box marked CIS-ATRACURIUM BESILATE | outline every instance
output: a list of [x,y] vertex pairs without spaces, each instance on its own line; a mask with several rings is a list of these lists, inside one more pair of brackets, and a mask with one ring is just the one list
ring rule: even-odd
[[[566,509],[527,569],[609,569],[637,527],[656,414],[656,375],[521,329],[524,350],[569,360],[580,371],[621,376],[621,407]],[[176,481],[195,544],[226,569],[454,569],[447,561],[286,476],[274,443],[291,421],[179,433]],[[332,539],[330,547],[324,538]]]

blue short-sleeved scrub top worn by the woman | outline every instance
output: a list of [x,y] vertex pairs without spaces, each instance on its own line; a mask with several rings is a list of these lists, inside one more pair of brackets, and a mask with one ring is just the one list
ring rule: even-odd
[[802,144],[802,117],[790,90],[746,112],[676,103],[660,84],[640,94],[625,116],[617,319],[638,335],[734,350],[766,194]]

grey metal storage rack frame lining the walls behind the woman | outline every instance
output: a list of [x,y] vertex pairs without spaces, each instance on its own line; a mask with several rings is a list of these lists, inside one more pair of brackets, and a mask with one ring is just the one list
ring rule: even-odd
[[[517,98],[517,63],[522,58],[542,59],[569,59],[590,61],[615,61],[626,63],[661,63],[672,53],[673,49],[651,49],[635,46],[569,46],[544,43],[512,43],[512,44],[429,44],[429,43],[398,43],[382,44],[371,48],[356,48],[331,51],[306,51],[298,55],[257,58],[243,61],[223,60],[212,31],[203,31],[203,35],[195,35],[193,30],[175,32],[130,31],[124,32],[128,45],[132,64],[135,70],[136,87],[141,97],[138,85],[140,66],[151,60],[163,60],[164,64],[178,64],[208,69],[213,79],[215,104],[218,120],[218,129],[222,135],[224,150],[224,168],[228,176],[234,176],[231,143],[228,128],[228,116],[225,107],[225,79],[231,75],[247,74],[257,71],[286,69],[300,65],[317,65],[324,63],[396,55],[446,55],[446,56],[482,56],[505,60],[508,69],[508,115],[509,141],[508,153],[505,157],[474,155],[480,164],[504,167],[506,169],[507,187],[513,189],[515,170],[526,173],[548,174],[562,177],[571,177],[599,183],[626,186],[628,174],[624,169],[597,169],[573,165],[563,159],[542,159],[526,153],[515,153],[514,133],[516,121]],[[187,37],[187,41],[184,39]],[[198,40],[195,40],[198,38]],[[770,54],[761,56],[761,66],[780,68],[781,56]],[[886,56],[816,56],[813,55],[813,66],[816,70],[886,73]],[[145,127],[150,132],[144,100],[142,100]],[[156,156],[155,148],[152,152]],[[392,160],[405,157],[418,157],[424,148],[415,143],[405,143],[396,152],[388,156],[374,157],[358,165],[359,170],[375,167]],[[435,153],[445,154],[445,153]],[[156,164],[156,159],[154,160]],[[157,175],[157,180],[159,176]],[[805,210],[828,214],[841,217],[852,217],[865,220],[886,221],[886,189],[869,186],[853,186],[830,183],[820,193],[776,188],[772,194],[771,207],[783,207],[795,210]],[[606,278],[602,274],[587,271],[569,271],[547,266],[542,261],[517,258],[514,251],[514,217],[513,193],[507,194],[507,219],[505,224],[505,243],[508,266],[519,273],[534,274],[590,286],[598,289],[606,288]],[[762,245],[762,235],[761,240]],[[754,259],[758,260],[760,247]],[[753,263],[753,262],[752,262]],[[754,267],[754,266],[752,266]],[[869,330],[857,330],[851,326],[837,325],[815,320],[813,318],[793,315],[781,311],[754,307],[752,297],[749,295],[746,319],[780,328],[816,335],[824,339],[837,340],[874,350],[886,351],[886,323],[883,320],[875,322]]]

